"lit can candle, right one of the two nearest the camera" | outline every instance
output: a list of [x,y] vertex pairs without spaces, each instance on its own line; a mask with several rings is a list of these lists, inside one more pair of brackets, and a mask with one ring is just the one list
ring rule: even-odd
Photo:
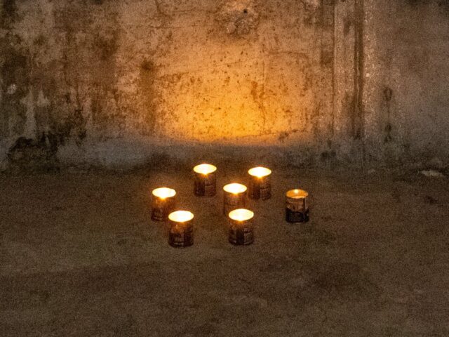
[[229,242],[236,245],[253,243],[253,216],[254,213],[248,209],[229,212]]

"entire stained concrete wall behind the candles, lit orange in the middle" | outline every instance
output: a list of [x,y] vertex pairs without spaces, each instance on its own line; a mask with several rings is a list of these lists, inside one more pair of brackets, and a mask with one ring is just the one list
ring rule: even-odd
[[445,3],[2,0],[0,159],[447,161]]

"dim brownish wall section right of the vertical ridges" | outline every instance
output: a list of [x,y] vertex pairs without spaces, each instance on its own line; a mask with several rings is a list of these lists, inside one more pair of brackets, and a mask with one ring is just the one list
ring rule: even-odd
[[449,1],[365,0],[366,156],[449,157]]

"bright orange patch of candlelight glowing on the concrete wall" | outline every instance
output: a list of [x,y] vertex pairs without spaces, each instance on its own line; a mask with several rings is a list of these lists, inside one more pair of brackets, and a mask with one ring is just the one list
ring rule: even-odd
[[[205,53],[215,51],[215,46],[203,43],[201,46]],[[196,64],[190,49],[184,53],[180,65],[186,58]],[[248,54],[253,55],[236,58],[239,62],[231,67],[220,66],[221,55],[217,55],[217,60],[209,61],[219,65],[213,73],[205,70],[186,74],[173,82],[166,81],[167,77],[156,79],[161,102],[158,107],[161,112],[156,117],[161,125],[160,136],[250,145],[309,138],[313,125],[308,114],[316,110],[316,102],[311,90],[298,95],[298,88],[301,91],[307,87],[307,77],[302,70],[288,70],[298,67],[297,60],[276,58],[257,62],[264,55],[256,51]],[[281,65],[283,70],[279,69]],[[172,60],[170,70],[171,67]],[[180,72],[185,71],[180,68]]]

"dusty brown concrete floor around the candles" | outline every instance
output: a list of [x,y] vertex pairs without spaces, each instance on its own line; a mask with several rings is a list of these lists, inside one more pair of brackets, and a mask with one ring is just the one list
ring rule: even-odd
[[[308,225],[283,221],[298,182]],[[149,219],[149,190],[168,183],[195,213],[188,249]],[[449,336],[445,178],[275,171],[245,247],[227,242],[222,194],[194,197],[189,173],[0,186],[0,336]]]

